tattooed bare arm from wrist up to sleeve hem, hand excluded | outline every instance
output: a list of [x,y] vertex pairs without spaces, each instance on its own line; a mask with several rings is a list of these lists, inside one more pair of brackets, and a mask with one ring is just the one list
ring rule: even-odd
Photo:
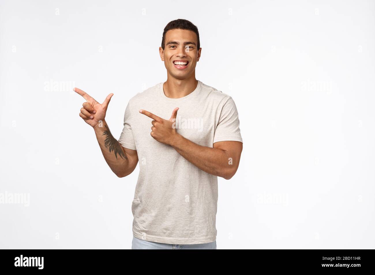
[[111,134],[107,122],[93,128],[104,159],[117,177],[126,177],[133,172],[138,163],[137,151],[122,147]]

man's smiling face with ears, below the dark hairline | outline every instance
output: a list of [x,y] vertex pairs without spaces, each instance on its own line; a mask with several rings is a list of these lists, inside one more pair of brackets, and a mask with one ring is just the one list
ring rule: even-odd
[[159,52],[168,74],[177,79],[185,79],[194,74],[196,62],[201,56],[196,34],[180,29],[166,32],[165,49],[160,47]]

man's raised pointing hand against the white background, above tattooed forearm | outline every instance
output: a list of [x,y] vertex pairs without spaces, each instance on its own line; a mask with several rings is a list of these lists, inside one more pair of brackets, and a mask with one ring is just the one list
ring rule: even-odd
[[81,108],[80,113],[80,117],[82,117],[87,124],[95,127],[96,125],[98,125],[99,120],[104,121],[108,104],[110,103],[111,97],[113,96],[112,93],[107,96],[102,104],[100,104],[98,101],[90,97],[89,94],[78,88],[74,88],[73,91],[75,91],[77,94],[82,95],[83,98],[87,100],[82,104],[83,108]]

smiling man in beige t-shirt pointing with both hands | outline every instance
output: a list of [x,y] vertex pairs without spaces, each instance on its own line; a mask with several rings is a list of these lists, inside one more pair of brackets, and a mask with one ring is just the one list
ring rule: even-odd
[[167,80],[129,100],[118,140],[105,121],[113,94],[100,104],[75,88],[112,171],[125,177],[139,160],[132,249],[216,249],[217,177],[236,173],[242,138],[233,99],[195,78],[201,50],[190,21],[166,25]]

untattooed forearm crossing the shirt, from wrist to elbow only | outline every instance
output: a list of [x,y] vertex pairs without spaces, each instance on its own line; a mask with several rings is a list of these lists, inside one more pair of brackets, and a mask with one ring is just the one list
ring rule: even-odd
[[229,165],[228,152],[218,148],[200,146],[177,134],[171,146],[187,161],[211,175],[231,178],[233,165]]

